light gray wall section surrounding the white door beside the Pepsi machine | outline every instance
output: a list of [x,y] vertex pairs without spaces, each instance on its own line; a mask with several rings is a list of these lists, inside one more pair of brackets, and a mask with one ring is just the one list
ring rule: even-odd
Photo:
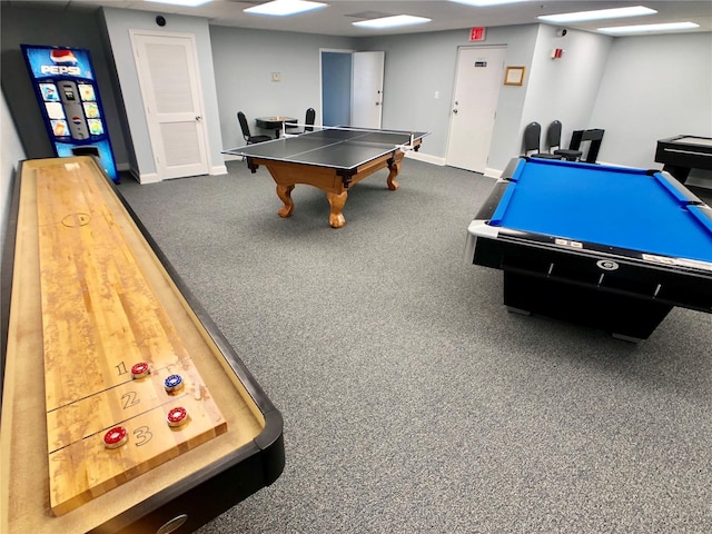
[[[167,23],[160,28],[156,24],[156,14],[149,11],[134,11],[128,9],[103,8],[105,23],[110,40],[111,53],[116,66],[117,76],[121,86],[121,96],[128,120],[128,127],[136,156],[137,169],[131,169],[141,182],[154,180],[156,175],[156,161],[151,149],[148,123],[144,111],[141,89],[138,82],[138,73],[134,61],[134,51],[129,34],[130,29],[151,30],[167,33],[191,33],[196,39],[198,63],[200,68],[200,85],[204,99],[204,118],[208,135],[208,158],[210,174],[225,174],[225,160],[220,150],[220,118],[215,87],[215,72],[212,67],[212,49],[210,48],[210,33],[208,20],[198,17],[184,17],[178,14],[165,16]],[[150,177],[146,180],[144,177]]]

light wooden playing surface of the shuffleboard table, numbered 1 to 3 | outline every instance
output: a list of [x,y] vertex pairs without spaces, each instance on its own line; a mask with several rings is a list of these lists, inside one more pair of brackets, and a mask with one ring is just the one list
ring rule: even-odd
[[[68,160],[37,171],[52,512],[85,502],[226,431],[180,334],[115,224],[101,182]],[[131,367],[148,364],[147,376]],[[180,389],[164,382],[180,377]],[[184,408],[180,426],[171,409]],[[123,445],[108,448],[119,428]],[[118,431],[117,431],[118,432]]]

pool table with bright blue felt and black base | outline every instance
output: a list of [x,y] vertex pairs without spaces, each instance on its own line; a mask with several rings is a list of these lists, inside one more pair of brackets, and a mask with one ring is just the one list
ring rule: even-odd
[[712,312],[712,209],[671,175],[513,159],[467,229],[513,312],[646,339],[674,306]]

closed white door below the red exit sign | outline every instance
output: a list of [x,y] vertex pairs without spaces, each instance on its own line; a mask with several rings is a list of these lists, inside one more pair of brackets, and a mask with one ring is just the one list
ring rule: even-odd
[[461,48],[449,122],[447,165],[484,172],[490,156],[505,48]]

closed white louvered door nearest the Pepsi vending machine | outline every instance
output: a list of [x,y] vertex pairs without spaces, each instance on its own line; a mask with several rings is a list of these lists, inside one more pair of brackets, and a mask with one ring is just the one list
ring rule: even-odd
[[208,174],[195,37],[131,30],[159,179]]

